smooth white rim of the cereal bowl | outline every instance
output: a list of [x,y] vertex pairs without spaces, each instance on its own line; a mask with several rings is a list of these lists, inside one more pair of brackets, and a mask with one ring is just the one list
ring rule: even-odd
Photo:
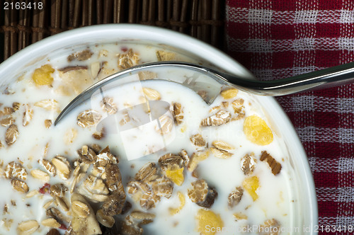
[[[59,48],[67,47],[68,45],[77,45],[78,42],[85,42],[85,40],[91,42],[100,38],[102,39],[103,35],[110,35],[112,39],[119,37],[131,39],[136,37],[143,40],[161,42],[172,47],[183,48],[191,53],[199,53],[196,55],[200,55],[200,57],[203,58],[212,55],[212,63],[229,73],[238,76],[246,76],[248,78],[254,77],[250,71],[236,62],[232,57],[229,57],[229,55],[226,55],[221,50],[198,39],[192,38],[189,35],[184,35],[173,30],[156,26],[127,23],[91,25],[83,28],[76,28],[35,42],[2,62],[0,64],[0,77],[2,78],[6,76],[6,69],[16,68],[16,66],[18,67],[18,63],[28,64],[28,62],[33,59],[33,55],[46,55],[53,50],[58,50]],[[129,36],[122,37],[122,35]],[[301,182],[304,183],[304,185],[302,185],[304,187],[303,193],[305,193],[305,195],[310,195],[308,200],[309,205],[306,205],[306,207],[309,208],[308,216],[310,220],[309,222],[311,223],[310,226],[312,227],[311,234],[314,234],[313,228],[318,224],[318,207],[314,178],[309,166],[307,154],[304,151],[304,147],[296,133],[295,127],[292,125],[289,117],[287,117],[285,111],[282,110],[275,98],[263,96],[262,98],[258,98],[258,101],[263,105],[267,105],[267,108],[272,109],[272,115],[275,115],[277,117],[277,122],[279,121],[280,123],[277,123],[277,125],[284,127],[282,133],[287,133],[287,136],[292,139],[292,144],[295,146],[292,149],[295,149],[297,156],[299,156],[295,164],[303,173],[302,176],[299,176],[302,178]]]

